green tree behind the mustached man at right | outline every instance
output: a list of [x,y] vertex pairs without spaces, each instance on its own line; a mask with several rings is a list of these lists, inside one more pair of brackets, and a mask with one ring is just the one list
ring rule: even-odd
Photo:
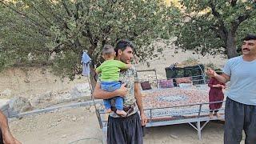
[[[176,45],[204,54],[238,55],[240,41],[255,32],[254,0],[181,0],[184,21]],[[238,41],[238,42],[237,42]]]

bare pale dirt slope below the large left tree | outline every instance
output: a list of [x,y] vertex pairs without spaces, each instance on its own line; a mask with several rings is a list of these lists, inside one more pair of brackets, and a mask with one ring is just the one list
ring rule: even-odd
[[22,96],[26,98],[47,91],[63,93],[70,91],[76,84],[87,82],[86,78],[78,76],[74,81],[69,78],[58,78],[45,67],[11,68],[0,73],[0,93],[11,90],[10,95],[1,98]]

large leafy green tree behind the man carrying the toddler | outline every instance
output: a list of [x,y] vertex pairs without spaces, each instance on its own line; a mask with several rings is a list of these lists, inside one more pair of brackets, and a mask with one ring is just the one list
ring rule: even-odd
[[2,67],[50,64],[70,78],[81,73],[83,50],[96,64],[103,45],[123,38],[141,60],[156,56],[151,42],[170,37],[178,14],[162,0],[14,0],[0,9]]

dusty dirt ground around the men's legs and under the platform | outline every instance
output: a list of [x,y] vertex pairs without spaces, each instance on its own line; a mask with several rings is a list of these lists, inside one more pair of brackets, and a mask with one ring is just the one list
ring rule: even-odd
[[[145,144],[221,144],[222,122],[210,122],[198,140],[196,130],[188,124],[146,128]],[[24,144],[100,144],[102,131],[94,112],[85,107],[55,110],[10,120],[10,130]]]

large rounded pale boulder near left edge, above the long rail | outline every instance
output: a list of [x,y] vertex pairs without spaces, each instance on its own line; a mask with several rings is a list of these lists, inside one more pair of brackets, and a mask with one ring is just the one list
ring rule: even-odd
[[9,106],[10,115],[19,114],[21,112],[33,109],[27,98],[18,96],[15,96],[14,98],[10,99]]

